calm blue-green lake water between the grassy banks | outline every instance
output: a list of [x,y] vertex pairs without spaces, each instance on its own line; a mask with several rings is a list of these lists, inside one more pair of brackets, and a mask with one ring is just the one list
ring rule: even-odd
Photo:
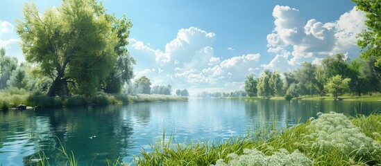
[[130,161],[162,136],[176,140],[223,140],[258,124],[305,122],[316,113],[353,116],[380,110],[381,102],[191,99],[109,107],[0,111],[0,165],[34,165],[38,154],[62,164],[58,139],[80,165],[104,165],[105,158]]

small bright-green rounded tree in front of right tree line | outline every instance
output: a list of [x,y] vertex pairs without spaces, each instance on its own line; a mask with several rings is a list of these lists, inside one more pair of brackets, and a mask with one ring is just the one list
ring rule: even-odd
[[325,84],[324,89],[328,91],[333,97],[337,98],[339,95],[343,95],[349,91],[350,78],[341,79],[341,75],[331,77]]

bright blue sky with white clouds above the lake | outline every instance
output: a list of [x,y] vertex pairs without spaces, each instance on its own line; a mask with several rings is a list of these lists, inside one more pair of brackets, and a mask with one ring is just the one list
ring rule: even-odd
[[[13,29],[25,1],[1,1],[0,46],[23,61]],[[40,11],[58,0],[33,1]],[[174,89],[242,89],[246,75],[292,71],[335,53],[358,56],[364,14],[350,0],[103,1],[133,22],[128,50],[135,75]]]

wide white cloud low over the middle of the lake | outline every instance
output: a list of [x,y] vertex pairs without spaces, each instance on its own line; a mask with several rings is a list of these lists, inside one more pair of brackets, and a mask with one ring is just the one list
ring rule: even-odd
[[210,86],[239,89],[246,75],[259,69],[260,55],[247,54],[228,59],[217,57],[212,46],[215,36],[199,28],[183,28],[164,50],[130,39],[128,49],[139,64],[135,75],[147,75],[154,80],[153,84],[171,84],[175,89],[192,91]]

